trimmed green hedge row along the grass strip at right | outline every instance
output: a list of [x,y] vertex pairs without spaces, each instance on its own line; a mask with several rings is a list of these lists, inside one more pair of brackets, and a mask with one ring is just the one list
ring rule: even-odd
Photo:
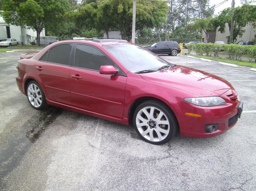
[[194,50],[198,55],[218,57],[219,53],[225,51],[232,60],[241,60],[243,56],[249,58],[250,62],[256,61],[256,45],[238,45],[238,44],[213,44],[213,43],[198,43],[188,44],[188,53]]

